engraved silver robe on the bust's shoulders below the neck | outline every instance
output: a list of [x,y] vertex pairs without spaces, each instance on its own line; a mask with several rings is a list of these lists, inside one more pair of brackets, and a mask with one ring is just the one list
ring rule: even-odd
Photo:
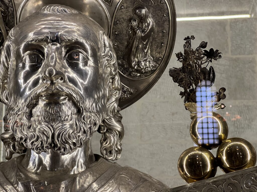
[[[0,191],[6,192],[167,192],[168,187],[131,167],[95,155],[96,161],[76,175],[54,177],[30,173],[20,164],[24,155],[0,164]],[[58,182],[56,182],[56,180]],[[75,190],[79,189],[79,190]]]

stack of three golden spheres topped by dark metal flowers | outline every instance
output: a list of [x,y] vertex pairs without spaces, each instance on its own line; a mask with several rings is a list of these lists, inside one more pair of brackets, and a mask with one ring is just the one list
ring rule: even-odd
[[[188,183],[214,177],[219,166],[225,173],[254,166],[256,152],[254,147],[242,138],[230,138],[225,119],[216,113],[224,109],[226,98],[224,87],[213,91],[215,71],[209,66],[221,59],[221,52],[213,48],[203,50],[208,42],[202,41],[192,49],[191,41],[195,37],[187,36],[183,45],[184,52],[176,53],[180,68],[173,67],[169,74],[178,86],[183,88],[179,95],[184,98],[186,110],[192,119],[190,135],[195,147],[184,151],[178,161],[180,176]],[[209,151],[218,147],[216,158]]]

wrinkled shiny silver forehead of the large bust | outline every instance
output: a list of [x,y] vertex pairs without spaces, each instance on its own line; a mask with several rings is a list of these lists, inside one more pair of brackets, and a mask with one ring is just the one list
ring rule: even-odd
[[[34,14],[33,14],[34,15]],[[41,36],[76,36],[88,41],[97,41],[99,27],[94,21],[80,14],[39,14],[25,19],[17,26],[17,43]]]

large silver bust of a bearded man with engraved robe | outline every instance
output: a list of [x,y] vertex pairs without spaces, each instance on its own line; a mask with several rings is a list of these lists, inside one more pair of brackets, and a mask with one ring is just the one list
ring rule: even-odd
[[[122,151],[121,82],[111,40],[86,15],[48,5],[17,24],[1,51],[0,91],[0,191],[169,191],[108,161]],[[96,131],[103,157],[91,149]]]

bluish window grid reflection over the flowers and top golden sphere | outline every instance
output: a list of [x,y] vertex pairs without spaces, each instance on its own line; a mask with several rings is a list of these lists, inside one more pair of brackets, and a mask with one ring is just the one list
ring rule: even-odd
[[213,97],[211,88],[203,81],[201,87],[196,88],[197,103],[197,132],[199,144],[218,144],[218,122],[212,117]]

